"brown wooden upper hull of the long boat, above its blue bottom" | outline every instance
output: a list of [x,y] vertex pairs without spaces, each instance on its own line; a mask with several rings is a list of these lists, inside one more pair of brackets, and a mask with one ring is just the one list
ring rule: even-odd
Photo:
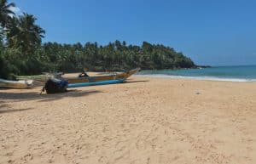
[[[73,77],[73,78],[66,78],[69,84],[73,83],[90,83],[90,82],[103,82],[103,81],[113,81],[119,79],[127,79],[132,74],[135,74],[140,69],[134,69],[131,71],[125,71],[122,73],[115,73],[112,75],[107,76],[84,76],[84,77]],[[124,80],[125,81],[125,80]],[[115,82],[115,81],[113,81]]]

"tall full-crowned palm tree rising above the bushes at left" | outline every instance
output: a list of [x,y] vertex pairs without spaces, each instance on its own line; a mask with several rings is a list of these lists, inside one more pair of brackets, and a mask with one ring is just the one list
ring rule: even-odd
[[20,48],[24,55],[31,54],[41,44],[45,31],[35,24],[37,19],[32,14],[23,13],[19,18],[12,18],[11,28],[7,31],[9,47]]

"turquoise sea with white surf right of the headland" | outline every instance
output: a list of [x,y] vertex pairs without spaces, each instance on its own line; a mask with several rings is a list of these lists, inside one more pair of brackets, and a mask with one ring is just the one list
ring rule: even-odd
[[137,76],[192,78],[199,80],[256,82],[256,65],[213,66],[202,69],[140,71]]

